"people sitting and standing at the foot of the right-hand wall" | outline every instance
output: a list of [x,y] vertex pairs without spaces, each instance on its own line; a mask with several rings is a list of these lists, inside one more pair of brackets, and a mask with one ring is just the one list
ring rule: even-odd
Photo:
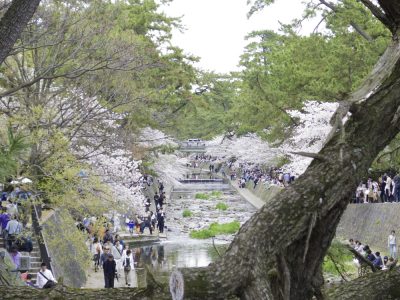
[[[397,238],[396,232],[392,230],[388,236],[388,252],[389,256],[383,256],[379,251],[373,252],[368,245],[363,245],[362,242],[353,239],[349,240],[349,245],[354,248],[362,257],[370,261],[378,270],[388,270],[397,264]],[[354,258],[354,263],[357,267],[362,265],[362,261],[357,257]]]

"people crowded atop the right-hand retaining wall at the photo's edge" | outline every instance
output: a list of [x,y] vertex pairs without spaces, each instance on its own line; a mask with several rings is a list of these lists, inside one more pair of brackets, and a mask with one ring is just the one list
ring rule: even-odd
[[400,202],[400,175],[383,174],[377,180],[368,178],[358,185],[353,203]]

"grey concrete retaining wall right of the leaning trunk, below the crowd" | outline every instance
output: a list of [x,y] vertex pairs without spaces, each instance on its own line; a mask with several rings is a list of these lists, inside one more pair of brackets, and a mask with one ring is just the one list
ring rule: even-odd
[[395,230],[400,240],[400,203],[350,204],[344,212],[336,236],[360,240],[373,250],[387,250],[387,237]]

